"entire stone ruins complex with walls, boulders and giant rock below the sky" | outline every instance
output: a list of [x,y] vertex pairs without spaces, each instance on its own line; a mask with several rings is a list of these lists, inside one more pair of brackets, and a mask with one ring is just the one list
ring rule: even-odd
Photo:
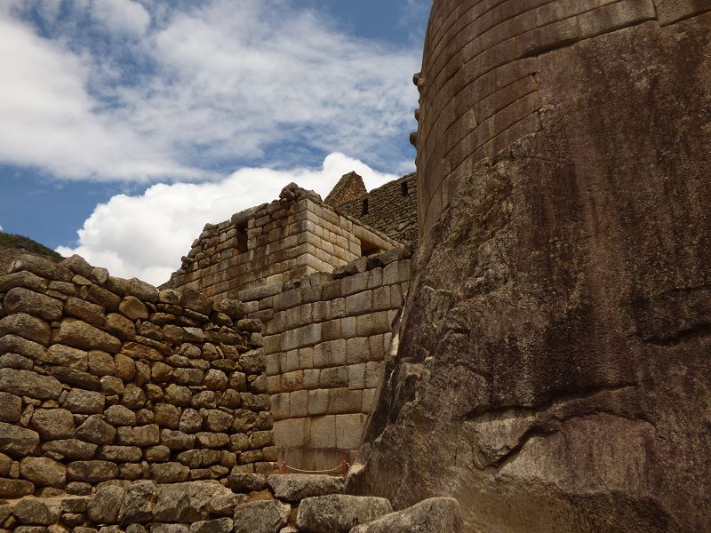
[[711,532],[711,2],[435,0],[414,82],[416,174],[0,274],[0,533]]

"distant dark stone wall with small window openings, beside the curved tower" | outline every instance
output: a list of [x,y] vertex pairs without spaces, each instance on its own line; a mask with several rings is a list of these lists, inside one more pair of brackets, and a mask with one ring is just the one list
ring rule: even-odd
[[417,187],[417,175],[408,174],[341,203],[339,209],[398,243],[413,243],[417,241]]

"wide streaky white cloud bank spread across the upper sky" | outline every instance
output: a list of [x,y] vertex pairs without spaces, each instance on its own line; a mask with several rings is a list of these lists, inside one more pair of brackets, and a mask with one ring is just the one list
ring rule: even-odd
[[333,151],[411,159],[415,47],[345,35],[289,0],[7,1],[2,163],[157,181]]

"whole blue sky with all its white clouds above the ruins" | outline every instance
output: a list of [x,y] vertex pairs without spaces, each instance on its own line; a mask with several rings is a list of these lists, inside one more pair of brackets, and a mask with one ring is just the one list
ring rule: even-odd
[[292,180],[411,171],[429,5],[3,0],[0,227],[157,283]]

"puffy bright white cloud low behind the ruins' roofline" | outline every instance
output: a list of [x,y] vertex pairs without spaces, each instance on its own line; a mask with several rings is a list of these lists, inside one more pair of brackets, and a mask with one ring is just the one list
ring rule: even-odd
[[271,202],[291,181],[324,197],[349,171],[361,174],[369,189],[397,178],[334,153],[318,170],[244,168],[219,182],[158,184],[143,195],[116,195],[98,205],[78,232],[78,246],[57,251],[65,256],[78,253],[114,275],[160,284],[180,267],[180,257],[206,223]]

